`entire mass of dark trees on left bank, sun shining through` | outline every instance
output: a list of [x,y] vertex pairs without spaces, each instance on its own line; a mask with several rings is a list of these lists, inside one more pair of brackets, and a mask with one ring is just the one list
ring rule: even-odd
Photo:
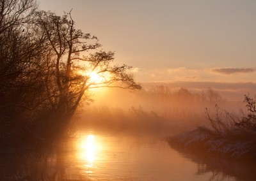
[[141,89],[131,66],[114,61],[96,36],[77,29],[71,11],[59,16],[38,10],[34,0],[0,1],[2,126],[56,129],[90,99],[90,89]]

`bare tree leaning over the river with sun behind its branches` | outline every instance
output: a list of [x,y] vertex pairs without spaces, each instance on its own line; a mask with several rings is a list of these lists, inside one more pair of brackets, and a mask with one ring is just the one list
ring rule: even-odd
[[[37,17],[36,26],[40,34],[45,34],[50,47],[47,64],[52,73],[47,76],[48,103],[56,108],[58,117],[68,120],[89,89],[141,89],[127,73],[131,66],[112,64],[114,52],[97,50],[101,47],[97,37],[76,29],[70,12],[60,17],[39,11]],[[89,50],[91,54],[87,53]]]

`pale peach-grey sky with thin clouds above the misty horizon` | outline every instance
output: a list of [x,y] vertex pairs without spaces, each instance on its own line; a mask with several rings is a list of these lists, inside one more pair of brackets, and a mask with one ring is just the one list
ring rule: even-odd
[[138,82],[214,82],[217,89],[216,83],[256,82],[254,0],[38,3],[58,15],[72,10],[77,29],[115,51],[115,62],[131,65]]

